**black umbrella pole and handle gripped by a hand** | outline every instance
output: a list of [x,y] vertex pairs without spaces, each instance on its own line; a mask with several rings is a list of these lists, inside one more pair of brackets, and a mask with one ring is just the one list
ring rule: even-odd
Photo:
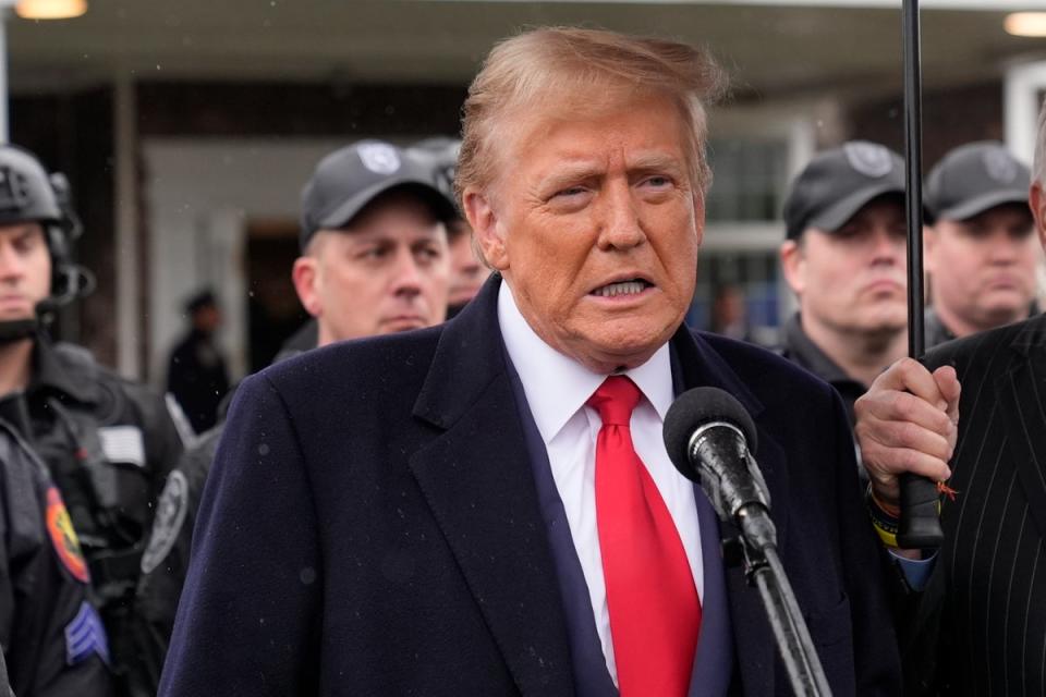
[[[903,0],[904,42],[904,179],[908,220],[908,355],[919,358],[925,347],[923,327],[923,131],[920,76],[919,0]],[[904,549],[939,547],[944,540],[937,516],[937,485],[925,477],[901,476],[901,522],[897,542]]]

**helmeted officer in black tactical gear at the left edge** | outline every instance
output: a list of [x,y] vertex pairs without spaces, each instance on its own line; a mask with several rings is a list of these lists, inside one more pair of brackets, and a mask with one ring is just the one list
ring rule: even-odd
[[69,506],[122,694],[142,551],[182,443],[161,398],[46,335],[54,309],[86,291],[71,259],[78,231],[64,180],[26,150],[0,146],[0,416],[40,455]]

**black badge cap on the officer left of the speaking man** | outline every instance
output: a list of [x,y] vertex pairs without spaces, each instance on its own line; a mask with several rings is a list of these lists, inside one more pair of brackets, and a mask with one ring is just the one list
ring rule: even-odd
[[318,230],[344,228],[364,207],[398,187],[417,193],[442,221],[455,217],[454,205],[433,179],[430,166],[384,140],[360,140],[335,150],[316,166],[302,189],[301,246]]

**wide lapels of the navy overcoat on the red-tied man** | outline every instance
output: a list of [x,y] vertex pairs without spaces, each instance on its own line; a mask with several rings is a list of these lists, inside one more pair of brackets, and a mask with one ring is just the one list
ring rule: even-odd
[[[572,695],[567,624],[497,321],[492,278],[447,325],[414,415],[446,429],[411,469],[524,695]],[[685,389],[735,396],[758,428],[762,404],[702,338],[684,327],[672,350]],[[756,458],[774,511],[787,510],[783,451],[759,431]],[[783,547],[787,525],[775,516]],[[731,624],[746,695],[774,692],[775,647],[758,592],[727,570]]]

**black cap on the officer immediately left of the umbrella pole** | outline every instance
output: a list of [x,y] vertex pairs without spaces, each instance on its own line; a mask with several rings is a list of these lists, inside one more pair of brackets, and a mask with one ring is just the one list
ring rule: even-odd
[[873,199],[904,195],[904,160],[878,143],[850,140],[814,156],[784,199],[789,240],[807,228],[835,232]]

